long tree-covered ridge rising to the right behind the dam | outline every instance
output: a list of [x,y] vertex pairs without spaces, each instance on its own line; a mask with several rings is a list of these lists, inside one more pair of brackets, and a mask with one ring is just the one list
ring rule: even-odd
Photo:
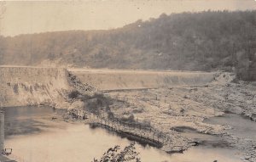
[[[86,21],[86,20],[84,20]],[[256,80],[256,11],[161,14],[108,31],[0,37],[0,64],[229,70]]]

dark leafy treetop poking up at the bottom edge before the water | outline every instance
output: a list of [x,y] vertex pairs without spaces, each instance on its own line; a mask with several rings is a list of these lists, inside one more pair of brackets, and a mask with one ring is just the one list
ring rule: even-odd
[[108,148],[108,151],[102,155],[101,159],[94,159],[93,162],[140,162],[135,148],[135,142],[120,150],[119,146]]

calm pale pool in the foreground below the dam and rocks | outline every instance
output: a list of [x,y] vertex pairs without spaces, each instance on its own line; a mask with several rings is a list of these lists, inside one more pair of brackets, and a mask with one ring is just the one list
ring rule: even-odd
[[[6,148],[13,148],[12,156],[26,162],[91,161],[114,145],[124,148],[131,141],[114,133],[84,124],[53,121],[55,112],[48,107],[8,108],[6,112]],[[228,148],[200,146],[184,154],[166,154],[157,148],[137,144],[143,162],[238,162],[239,154]]]

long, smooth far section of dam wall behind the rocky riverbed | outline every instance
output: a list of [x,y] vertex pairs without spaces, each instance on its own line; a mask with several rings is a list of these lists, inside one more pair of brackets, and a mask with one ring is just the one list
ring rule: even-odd
[[69,70],[79,80],[99,90],[157,87],[201,86],[211,82],[216,73],[148,70]]

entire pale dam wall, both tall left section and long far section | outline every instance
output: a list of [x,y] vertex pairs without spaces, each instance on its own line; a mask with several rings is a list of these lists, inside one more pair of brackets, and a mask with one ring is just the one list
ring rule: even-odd
[[[72,69],[85,84],[98,90],[201,86],[216,73]],[[0,107],[55,104],[66,108],[64,93],[73,88],[69,73],[62,68],[0,66]],[[64,103],[64,104],[63,104]]]

